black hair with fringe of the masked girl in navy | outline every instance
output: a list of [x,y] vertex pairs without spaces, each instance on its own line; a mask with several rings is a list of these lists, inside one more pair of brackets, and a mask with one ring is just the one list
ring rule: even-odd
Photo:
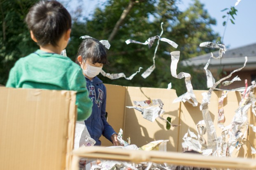
[[[79,55],[81,55],[85,61],[90,59],[90,62],[93,64],[107,64],[107,53],[105,51],[105,46],[94,38],[86,38],[81,42],[77,52],[77,57]],[[79,64],[77,59],[76,62]]]

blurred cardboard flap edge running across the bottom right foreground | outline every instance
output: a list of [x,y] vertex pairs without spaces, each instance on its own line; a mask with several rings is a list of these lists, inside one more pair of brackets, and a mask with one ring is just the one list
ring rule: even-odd
[[160,152],[160,151],[140,151],[126,150],[119,148],[105,147],[86,147],[73,151],[72,170],[78,170],[79,156],[88,159],[129,161],[133,163],[154,162],[168,163],[174,165],[189,165],[202,168],[234,168],[255,170],[256,162],[254,159],[213,157],[200,154]]

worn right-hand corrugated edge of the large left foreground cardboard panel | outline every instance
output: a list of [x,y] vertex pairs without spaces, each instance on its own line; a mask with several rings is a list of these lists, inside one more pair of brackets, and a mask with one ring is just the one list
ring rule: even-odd
[[72,160],[72,150],[74,147],[74,129],[75,129],[75,122],[77,120],[77,106],[75,105],[76,92],[69,91],[69,93],[66,93],[66,91],[63,91],[62,94],[65,95],[66,98],[70,100],[69,115],[67,120],[68,125],[67,125],[66,168],[65,168],[65,169],[70,169],[71,160]]

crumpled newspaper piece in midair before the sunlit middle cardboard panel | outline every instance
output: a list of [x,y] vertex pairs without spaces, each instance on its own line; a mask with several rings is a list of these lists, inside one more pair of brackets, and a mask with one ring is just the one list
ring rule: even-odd
[[[140,111],[142,113],[144,119],[147,119],[151,122],[154,122],[155,119],[158,117],[158,118],[162,119],[163,121],[168,122],[173,127],[179,126],[179,125],[172,124],[167,119],[164,119],[163,117],[161,117],[161,115],[163,113],[165,113],[165,111],[163,110],[163,105],[164,104],[163,104],[161,99],[133,101],[133,103],[136,106],[140,106],[140,107],[149,106],[147,108],[139,108],[139,107],[136,107],[136,106],[126,106],[127,108],[134,108],[134,109]],[[154,107],[154,105],[159,105],[159,106]]]

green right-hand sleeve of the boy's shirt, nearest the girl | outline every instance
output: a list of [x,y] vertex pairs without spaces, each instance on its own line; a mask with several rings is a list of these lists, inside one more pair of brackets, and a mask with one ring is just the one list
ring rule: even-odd
[[77,105],[77,120],[86,120],[91,116],[93,103],[88,97],[88,90],[86,88],[86,80],[81,70],[78,70],[74,75],[70,90],[77,91],[76,105]]

